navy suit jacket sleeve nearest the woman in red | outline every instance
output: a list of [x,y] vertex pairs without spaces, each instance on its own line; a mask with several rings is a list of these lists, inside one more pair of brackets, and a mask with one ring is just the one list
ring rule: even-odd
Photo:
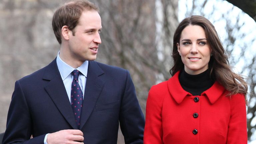
[[119,115],[120,128],[125,144],[143,144],[145,119],[131,76],[128,71],[126,73],[126,85]]

